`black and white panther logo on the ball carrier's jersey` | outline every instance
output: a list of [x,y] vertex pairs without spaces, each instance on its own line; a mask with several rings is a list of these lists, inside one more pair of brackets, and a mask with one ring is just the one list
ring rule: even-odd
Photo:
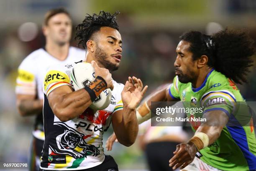
[[[62,122],[55,122],[54,125],[58,126],[56,129],[63,130],[63,133],[56,136],[56,146],[49,146],[54,153],[68,154],[73,158],[82,158],[89,155],[98,156],[100,154],[99,147],[87,144],[84,141],[88,136],[84,136],[84,134],[79,133]],[[77,151],[77,147],[82,148],[82,150]]]

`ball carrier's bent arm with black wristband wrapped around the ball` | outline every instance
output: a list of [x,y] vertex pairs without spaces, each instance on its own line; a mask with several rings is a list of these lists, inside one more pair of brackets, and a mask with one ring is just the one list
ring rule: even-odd
[[[87,88],[73,91],[71,86],[66,83],[66,85],[55,88],[49,94],[47,93],[49,105],[60,121],[66,122],[76,118],[91,105],[92,101],[94,101],[103,90],[107,88],[113,89],[111,73],[105,68],[100,68],[95,61],[92,61],[92,66],[95,68],[96,79],[87,86]],[[103,78],[103,80],[98,76]],[[100,82],[102,82],[104,86],[99,88],[99,90],[93,89],[95,86],[99,85]],[[54,82],[51,84],[54,85]]]

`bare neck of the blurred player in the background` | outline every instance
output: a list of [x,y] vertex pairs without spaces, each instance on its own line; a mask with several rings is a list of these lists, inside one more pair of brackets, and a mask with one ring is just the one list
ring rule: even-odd
[[51,56],[58,60],[65,60],[69,55],[69,43],[62,46],[55,43],[46,43],[45,49]]

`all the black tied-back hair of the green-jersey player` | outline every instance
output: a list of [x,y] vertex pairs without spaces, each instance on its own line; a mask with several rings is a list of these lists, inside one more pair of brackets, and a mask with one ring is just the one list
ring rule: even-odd
[[207,65],[231,78],[235,83],[247,83],[246,75],[253,64],[253,40],[245,30],[221,30],[214,35],[205,35],[198,31],[189,31],[179,37],[190,43],[192,59],[202,55],[208,57]]

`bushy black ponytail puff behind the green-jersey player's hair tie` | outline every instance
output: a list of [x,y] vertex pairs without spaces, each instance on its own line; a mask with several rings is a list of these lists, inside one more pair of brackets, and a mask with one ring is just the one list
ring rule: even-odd
[[253,40],[246,30],[221,30],[212,36],[216,43],[214,68],[235,83],[248,83],[246,75],[253,64]]

